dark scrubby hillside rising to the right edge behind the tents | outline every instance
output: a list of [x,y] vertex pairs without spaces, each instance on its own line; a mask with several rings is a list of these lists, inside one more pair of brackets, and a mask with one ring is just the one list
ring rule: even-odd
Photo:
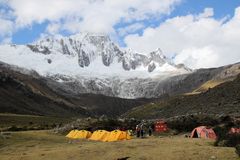
[[195,95],[179,95],[136,107],[124,117],[169,118],[191,114],[240,115],[240,76]]

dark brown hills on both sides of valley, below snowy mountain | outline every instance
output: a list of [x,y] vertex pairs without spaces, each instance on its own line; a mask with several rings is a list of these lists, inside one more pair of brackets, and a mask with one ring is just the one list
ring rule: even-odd
[[[236,114],[239,88],[234,79],[239,73],[239,63],[200,69],[158,85],[151,84],[155,89],[154,92],[146,90],[149,95],[165,93],[156,99],[122,99],[100,94],[73,94],[66,91],[68,85],[42,77],[33,70],[0,63],[0,113],[62,117],[125,115],[137,118],[197,113]],[[72,88],[81,90],[75,85]]]

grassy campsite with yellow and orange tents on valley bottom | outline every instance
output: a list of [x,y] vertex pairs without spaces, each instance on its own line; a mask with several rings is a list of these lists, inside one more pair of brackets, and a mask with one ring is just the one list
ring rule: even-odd
[[[148,135],[147,127],[144,137],[137,137],[135,129],[120,129],[134,127],[139,122],[152,126],[153,135]],[[5,131],[0,134],[0,159],[239,159],[234,147],[215,146],[216,133],[208,126],[176,133],[162,119],[153,122],[85,118],[51,130]],[[119,127],[114,130],[116,126]],[[230,131],[235,133],[238,129]]]

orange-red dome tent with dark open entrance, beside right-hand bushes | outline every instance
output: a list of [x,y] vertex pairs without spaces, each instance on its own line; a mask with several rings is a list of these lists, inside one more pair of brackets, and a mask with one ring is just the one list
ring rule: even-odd
[[191,138],[208,138],[216,139],[217,136],[212,128],[207,128],[206,126],[200,126],[192,131]]

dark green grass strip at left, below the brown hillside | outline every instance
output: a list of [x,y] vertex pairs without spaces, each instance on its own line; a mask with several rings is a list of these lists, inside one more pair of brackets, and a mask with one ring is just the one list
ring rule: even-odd
[[69,123],[73,120],[74,118],[0,113],[0,131],[51,129],[57,125]]

